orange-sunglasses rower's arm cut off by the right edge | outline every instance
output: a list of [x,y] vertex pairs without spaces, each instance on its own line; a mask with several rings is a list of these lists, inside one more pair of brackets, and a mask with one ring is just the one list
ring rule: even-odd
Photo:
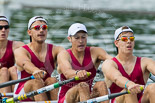
[[[153,75],[155,75],[155,61],[151,58],[142,58],[142,64],[146,66],[146,69],[151,72]],[[146,70],[145,70],[146,71]]]

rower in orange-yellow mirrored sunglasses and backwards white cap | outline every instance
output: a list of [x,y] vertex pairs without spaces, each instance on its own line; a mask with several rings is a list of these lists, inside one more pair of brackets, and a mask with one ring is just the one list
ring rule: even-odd
[[133,55],[135,37],[128,26],[118,28],[114,38],[118,54],[102,65],[105,82],[111,93],[128,89],[131,94],[117,97],[111,103],[155,103],[155,84],[148,85],[144,94],[140,90],[140,86],[146,84],[150,72],[155,75],[155,61]]

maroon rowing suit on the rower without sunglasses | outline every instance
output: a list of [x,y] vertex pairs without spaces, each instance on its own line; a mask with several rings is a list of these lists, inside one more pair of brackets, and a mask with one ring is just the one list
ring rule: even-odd
[[[70,49],[68,49],[67,51],[70,54],[71,59],[72,59],[72,63],[71,63],[72,68],[74,70],[86,70],[88,72],[91,72],[91,75],[90,75],[90,77],[88,77],[85,80],[79,80],[79,81],[70,82],[70,83],[62,86],[61,90],[60,90],[60,93],[59,93],[59,100],[61,100],[65,96],[66,92],[70,88],[72,88],[73,86],[77,85],[80,82],[88,83],[89,88],[91,90],[92,82],[93,82],[94,77],[96,75],[96,68],[95,68],[95,66],[94,66],[94,64],[92,62],[92,59],[91,59],[90,47],[86,47],[85,48],[85,55],[84,55],[84,60],[82,62],[82,65],[75,58],[75,56],[73,55],[73,53],[72,53],[72,51]],[[60,77],[61,77],[61,81],[66,80],[66,77],[63,74],[60,74]]]

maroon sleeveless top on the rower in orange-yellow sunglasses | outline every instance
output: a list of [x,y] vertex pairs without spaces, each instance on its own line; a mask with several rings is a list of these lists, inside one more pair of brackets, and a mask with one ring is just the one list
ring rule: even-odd
[[[131,80],[131,81],[133,81],[133,82],[135,82],[137,84],[145,85],[145,82],[143,80],[143,73],[142,73],[142,69],[141,69],[141,58],[140,57],[137,57],[135,67],[134,67],[134,69],[133,69],[133,71],[132,71],[132,73],[130,75],[128,75],[125,72],[122,64],[115,57],[112,60],[117,64],[118,70],[120,71],[120,73],[124,77],[128,78],[129,80]],[[123,90],[123,88],[120,88],[115,83],[112,83],[112,85],[110,86],[110,92],[111,93],[117,93],[117,92],[120,92],[122,90]],[[141,98],[141,96],[142,96],[142,93],[139,93],[137,95],[138,100]]]

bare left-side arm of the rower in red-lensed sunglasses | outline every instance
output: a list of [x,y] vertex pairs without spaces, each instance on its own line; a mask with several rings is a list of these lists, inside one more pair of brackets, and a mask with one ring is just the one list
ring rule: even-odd
[[[44,75],[46,75],[46,72],[44,72],[43,70],[40,70],[31,62],[28,52],[24,48],[20,47],[20,48],[16,49],[14,54],[15,54],[16,64],[20,67],[20,71],[25,70],[29,74],[34,74],[36,72],[37,73],[40,72],[37,75],[39,75],[39,77],[42,77],[42,78],[44,76],[40,75],[40,74],[44,73]],[[35,77],[35,78],[37,78],[37,77]]]

